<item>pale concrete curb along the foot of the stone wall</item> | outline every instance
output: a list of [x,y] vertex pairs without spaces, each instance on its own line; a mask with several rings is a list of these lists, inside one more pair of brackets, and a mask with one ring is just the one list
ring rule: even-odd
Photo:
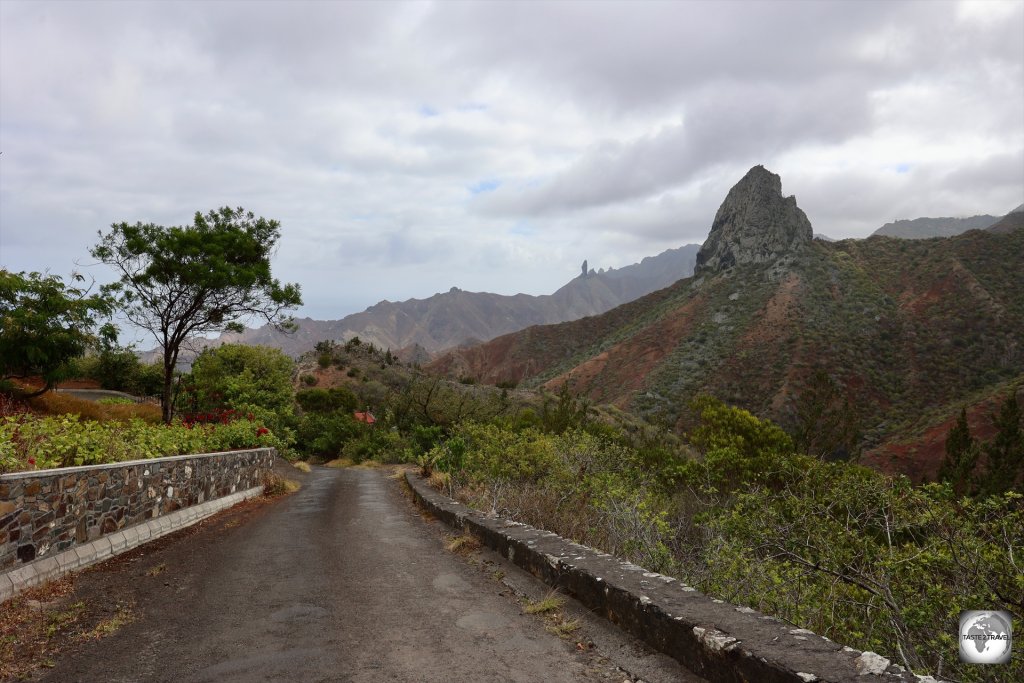
[[11,569],[0,574],[0,602],[5,602],[33,586],[53,581],[71,571],[84,569],[91,564],[120,555],[144,543],[156,541],[162,536],[191,526],[214,513],[260,496],[262,493],[262,486],[255,486],[189,508],[182,508],[147,522],[100,537],[91,543],[76,546],[49,557],[40,558],[16,569]]

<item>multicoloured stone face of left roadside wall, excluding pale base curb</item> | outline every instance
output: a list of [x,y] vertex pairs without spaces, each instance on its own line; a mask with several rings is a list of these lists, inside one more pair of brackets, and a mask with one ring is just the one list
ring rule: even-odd
[[272,449],[0,475],[0,572],[263,483]]

